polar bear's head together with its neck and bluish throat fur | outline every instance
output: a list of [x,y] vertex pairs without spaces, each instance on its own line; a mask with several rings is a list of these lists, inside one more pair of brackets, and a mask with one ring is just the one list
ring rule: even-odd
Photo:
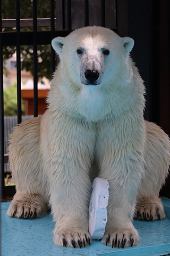
[[66,113],[98,121],[125,105],[134,87],[133,45],[132,38],[96,26],[53,39],[60,63],[51,85],[53,93],[60,91]]

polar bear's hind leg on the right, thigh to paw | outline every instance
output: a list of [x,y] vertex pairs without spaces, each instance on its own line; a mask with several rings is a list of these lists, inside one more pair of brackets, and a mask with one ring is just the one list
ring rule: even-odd
[[169,149],[169,138],[164,131],[156,124],[146,121],[146,166],[138,191],[135,219],[154,221],[165,218],[159,190],[168,174]]

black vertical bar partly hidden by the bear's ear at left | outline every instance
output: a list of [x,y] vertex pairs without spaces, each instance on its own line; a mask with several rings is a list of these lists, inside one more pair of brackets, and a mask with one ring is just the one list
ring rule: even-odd
[[[52,39],[54,38],[53,31],[55,30],[55,21],[54,21],[54,0],[50,0],[50,26],[52,30]],[[51,46],[51,66],[52,66],[52,77],[53,73],[55,71],[55,52],[53,50],[53,47]]]

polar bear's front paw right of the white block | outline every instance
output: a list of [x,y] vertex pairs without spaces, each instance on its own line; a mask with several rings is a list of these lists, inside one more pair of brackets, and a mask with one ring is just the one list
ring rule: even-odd
[[119,248],[119,247],[129,247],[138,245],[140,242],[140,237],[138,232],[131,233],[130,231],[124,232],[113,232],[113,233],[106,233],[101,240],[101,243]]

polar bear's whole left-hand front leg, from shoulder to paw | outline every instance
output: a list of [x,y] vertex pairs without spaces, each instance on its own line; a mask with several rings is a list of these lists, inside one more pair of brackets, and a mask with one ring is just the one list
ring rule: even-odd
[[95,134],[68,117],[55,127],[57,135],[50,140],[47,153],[50,205],[56,222],[53,241],[59,246],[85,247],[92,243],[88,207]]

